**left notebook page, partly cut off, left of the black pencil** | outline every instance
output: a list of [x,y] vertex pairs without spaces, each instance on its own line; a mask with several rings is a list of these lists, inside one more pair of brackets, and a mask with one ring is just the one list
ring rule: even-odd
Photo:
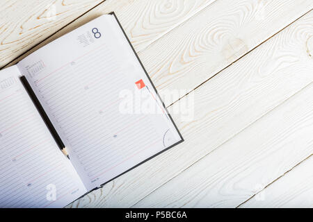
[[63,207],[86,193],[19,80],[0,71],[0,207]]

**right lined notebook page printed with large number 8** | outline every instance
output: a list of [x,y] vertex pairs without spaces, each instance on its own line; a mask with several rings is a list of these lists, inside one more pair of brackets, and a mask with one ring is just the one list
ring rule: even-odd
[[18,67],[89,190],[182,141],[113,15],[51,42]]

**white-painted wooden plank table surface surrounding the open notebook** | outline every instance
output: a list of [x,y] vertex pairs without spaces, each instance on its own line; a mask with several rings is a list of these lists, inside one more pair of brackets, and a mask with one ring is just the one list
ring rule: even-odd
[[2,0],[0,67],[115,11],[159,92],[183,92],[165,103],[186,141],[69,207],[313,207],[312,8]]

